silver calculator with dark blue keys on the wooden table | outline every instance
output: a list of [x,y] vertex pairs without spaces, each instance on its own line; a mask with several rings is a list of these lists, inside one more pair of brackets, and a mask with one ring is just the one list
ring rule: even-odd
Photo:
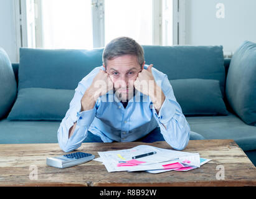
[[94,159],[94,155],[84,152],[74,152],[72,154],[61,155],[57,157],[47,157],[46,164],[50,167],[66,168],[73,167],[78,164],[83,164]]

